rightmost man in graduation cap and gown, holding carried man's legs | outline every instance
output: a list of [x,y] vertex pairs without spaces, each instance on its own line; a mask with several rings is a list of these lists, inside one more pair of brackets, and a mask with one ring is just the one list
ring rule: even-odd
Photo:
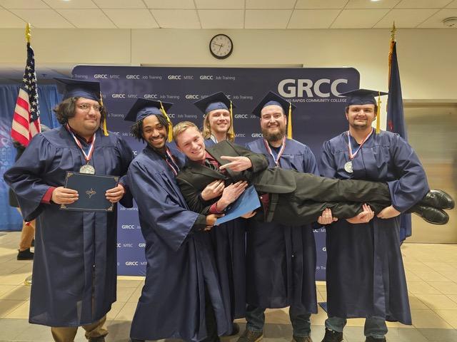
[[[340,219],[326,227],[328,319],[323,342],[342,341],[346,318],[354,317],[366,318],[367,342],[382,342],[386,321],[411,325],[398,215],[428,194],[429,204],[431,197],[441,197],[435,211],[446,223],[447,214],[441,209],[452,209],[453,200],[444,192],[428,192],[426,174],[408,142],[371,127],[379,116],[374,96],[386,93],[358,89],[341,95],[347,96],[349,129],[324,142],[321,174],[386,182],[392,203],[368,223]],[[426,210],[418,208],[418,214]]]

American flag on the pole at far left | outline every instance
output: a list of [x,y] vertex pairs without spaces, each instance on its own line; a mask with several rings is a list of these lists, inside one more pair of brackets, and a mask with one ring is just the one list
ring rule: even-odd
[[27,63],[22,81],[14,108],[11,138],[21,145],[28,146],[31,138],[41,131],[38,93],[36,91],[35,58],[30,43],[27,43]]

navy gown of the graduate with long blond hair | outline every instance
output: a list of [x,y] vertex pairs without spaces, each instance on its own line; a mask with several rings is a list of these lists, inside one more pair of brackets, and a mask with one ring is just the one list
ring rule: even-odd
[[[206,147],[216,145],[205,140]],[[229,316],[242,318],[246,312],[246,219],[232,219],[211,229],[216,265]]]

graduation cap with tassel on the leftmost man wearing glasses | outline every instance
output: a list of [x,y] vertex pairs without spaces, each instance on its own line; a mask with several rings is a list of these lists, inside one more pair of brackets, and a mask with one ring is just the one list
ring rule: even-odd
[[[60,77],[55,77],[54,80],[59,82],[57,83],[57,88],[59,88],[60,93],[64,93],[64,98],[62,98],[62,100],[66,100],[67,98],[89,98],[89,100],[100,102],[103,106],[100,82]],[[108,135],[106,118],[103,120],[103,133],[104,135]]]

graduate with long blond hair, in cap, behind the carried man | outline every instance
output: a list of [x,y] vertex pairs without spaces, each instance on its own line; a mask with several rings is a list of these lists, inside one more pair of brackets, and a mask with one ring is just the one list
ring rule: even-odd
[[[206,147],[217,142],[229,140],[233,142],[233,108],[235,105],[222,92],[209,95],[194,103],[202,113],[204,122],[202,134]],[[224,182],[215,180],[202,192],[205,201],[219,197],[224,191]],[[216,253],[216,265],[219,271],[224,304],[232,319],[244,317],[246,311],[246,269],[245,269],[245,237],[246,220],[234,219],[211,229],[211,239]],[[238,333],[238,324],[233,323],[231,334]]]

